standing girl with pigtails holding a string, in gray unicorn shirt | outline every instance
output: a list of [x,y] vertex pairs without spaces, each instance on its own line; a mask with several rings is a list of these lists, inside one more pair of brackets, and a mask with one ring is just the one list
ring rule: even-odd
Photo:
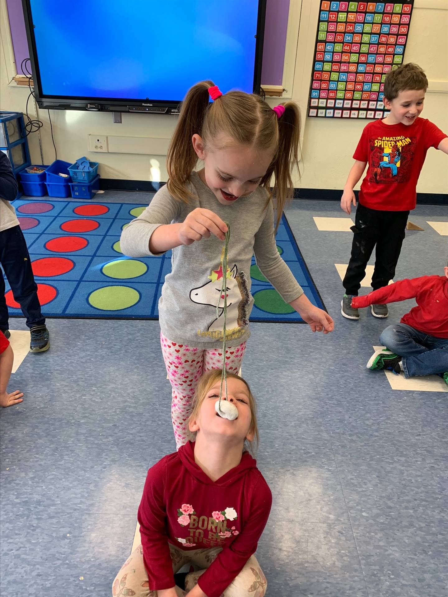
[[[293,102],[271,109],[255,94],[222,94],[211,81],[194,85],[168,149],[168,183],[121,233],[121,250],[131,257],[173,250],[159,321],[178,448],[189,439],[187,420],[202,374],[222,368],[224,356],[229,373],[240,370],[250,336],[253,254],[263,275],[312,331],[333,330],[332,318],[306,298],[275,243],[275,229],[293,192],[299,138],[300,113]],[[198,159],[204,167],[195,171]],[[223,271],[226,223],[231,241]]]

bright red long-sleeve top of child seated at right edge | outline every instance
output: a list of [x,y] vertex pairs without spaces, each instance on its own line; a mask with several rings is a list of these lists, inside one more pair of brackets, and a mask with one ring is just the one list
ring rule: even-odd
[[448,339],[448,279],[445,276],[422,276],[400,280],[363,297],[353,297],[352,307],[395,303],[415,298],[417,306],[403,315],[401,323],[435,336]]

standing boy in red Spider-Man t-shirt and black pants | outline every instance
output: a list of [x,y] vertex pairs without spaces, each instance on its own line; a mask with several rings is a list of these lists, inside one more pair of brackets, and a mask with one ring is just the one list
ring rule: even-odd
[[[355,163],[344,187],[340,207],[351,213],[356,205],[353,187],[363,175],[350,261],[342,285],[345,294],[341,313],[359,319],[352,306],[358,295],[367,262],[376,245],[373,290],[394,278],[409,210],[416,205],[417,180],[429,147],[448,153],[448,137],[432,122],[419,118],[423,110],[428,79],[417,64],[403,64],[391,70],[384,82],[384,105],[390,110],[382,120],[369,122],[353,155]],[[386,304],[372,304],[372,315],[387,317]]]

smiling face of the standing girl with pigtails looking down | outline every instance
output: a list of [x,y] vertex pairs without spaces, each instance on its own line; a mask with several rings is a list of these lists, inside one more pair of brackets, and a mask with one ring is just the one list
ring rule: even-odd
[[259,186],[274,159],[274,149],[256,150],[232,143],[220,135],[214,147],[205,147],[199,135],[192,139],[198,158],[204,161],[199,176],[222,205],[232,205]]

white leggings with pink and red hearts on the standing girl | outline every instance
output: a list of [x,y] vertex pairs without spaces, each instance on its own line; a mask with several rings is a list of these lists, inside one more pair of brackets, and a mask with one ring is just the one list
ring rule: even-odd
[[[163,359],[168,378],[173,388],[171,420],[173,421],[176,446],[180,448],[191,439],[186,421],[191,413],[191,404],[198,382],[211,369],[222,368],[222,351],[219,349],[200,350],[186,344],[177,344],[160,334]],[[226,370],[238,374],[243,362],[246,342],[238,346],[226,347]]]

